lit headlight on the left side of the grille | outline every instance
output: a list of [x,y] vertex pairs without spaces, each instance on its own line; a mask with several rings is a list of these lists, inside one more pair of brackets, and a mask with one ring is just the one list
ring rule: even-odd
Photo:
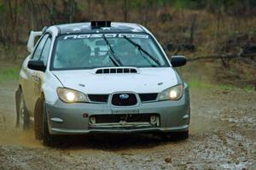
[[73,89],[57,88],[57,94],[59,98],[66,103],[88,102],[85,94]]

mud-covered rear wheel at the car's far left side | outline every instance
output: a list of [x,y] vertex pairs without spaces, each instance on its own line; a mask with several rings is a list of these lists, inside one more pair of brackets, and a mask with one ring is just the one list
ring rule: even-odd
[[26,109],[25,100],[23,98],[23,93],[19,90],[16,93],[16,107],[17,107],[17,116],[16,116],[16,127],[24,131],[29,128],[30,118],[28,111]]

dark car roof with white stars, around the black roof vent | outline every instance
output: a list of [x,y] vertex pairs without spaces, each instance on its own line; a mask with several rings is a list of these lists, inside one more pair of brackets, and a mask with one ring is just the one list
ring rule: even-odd
[[91,27],[90,22],[56,25],[59,34],[99,32],[146,32],[143,26],[134,23],[111,22],[110,27]]

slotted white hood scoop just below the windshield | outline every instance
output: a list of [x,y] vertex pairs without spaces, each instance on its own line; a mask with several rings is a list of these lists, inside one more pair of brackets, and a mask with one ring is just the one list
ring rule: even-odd
[[96,69],[96,74],[127,74],[127,73],[138,73],[136,67],[111,67],[111,68],[100,68]]

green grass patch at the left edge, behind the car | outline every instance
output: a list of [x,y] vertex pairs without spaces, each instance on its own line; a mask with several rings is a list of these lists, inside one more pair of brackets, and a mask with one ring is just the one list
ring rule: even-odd
[[0,69],[0,81],[18,80],[19,72],[18,67]]

